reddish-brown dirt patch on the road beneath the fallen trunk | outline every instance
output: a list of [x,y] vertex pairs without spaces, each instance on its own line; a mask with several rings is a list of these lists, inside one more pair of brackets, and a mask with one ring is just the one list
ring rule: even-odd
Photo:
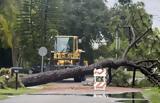
[[[82,83],[50,83],[43,87],[45,93],[93,93],[93,86],[84,86]],[[106,87],[106,93],[116,94],[125,92],[142,92],[139,88]]]

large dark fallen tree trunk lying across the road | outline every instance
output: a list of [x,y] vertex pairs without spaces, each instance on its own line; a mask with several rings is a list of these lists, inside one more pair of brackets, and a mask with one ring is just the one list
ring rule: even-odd
[[[150,64],[150,65],[147,65]],[[72,78],[81,74],[92,74],[94,68],[113,68],[118,69],[120,66],[125,66],[126,68],[136,68],[140,70],[149,80],[160,86],[160,76],[152,72],[152,68],[156,67],[159,64],[158,60],[145,60],[145,61],[128,61],[128,60],[103,60],[101,62],[89,65],[87,67],[76,67],[76,68],[67,68],[61,70],[47,71],[38,74],[32,74],[27,77],[21,78],[22,83],[25,86],[34,86],[45,84],[49,82],[55,82],[63,80],[66,78]]]

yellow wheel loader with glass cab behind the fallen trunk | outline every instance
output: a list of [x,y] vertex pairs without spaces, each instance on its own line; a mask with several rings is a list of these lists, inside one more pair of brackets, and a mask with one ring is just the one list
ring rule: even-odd
[[[73,68],[87,65],[84,51],[78,48],[78,36],[56,36],[54,50],[51,51],[51,65],[55,69]],[[74,77],[75,82],[85,80],[85,75]]]

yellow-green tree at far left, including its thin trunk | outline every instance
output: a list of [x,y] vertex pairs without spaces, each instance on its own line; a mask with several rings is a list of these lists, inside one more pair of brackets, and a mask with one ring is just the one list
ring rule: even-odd
[[0,2],[0,47],[12,49],[12,62],[15,64],[15,44],[17,41],[17,34],[15,33],[16,14],[19,11],[18,5],[21,1],[1,0]]

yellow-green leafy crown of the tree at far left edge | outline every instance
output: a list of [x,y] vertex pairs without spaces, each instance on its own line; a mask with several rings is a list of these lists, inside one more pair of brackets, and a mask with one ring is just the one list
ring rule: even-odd
[[13,27],[16,20],[15,0],[0,1],[0,35],[1,42],[5,47],[12,47]]

